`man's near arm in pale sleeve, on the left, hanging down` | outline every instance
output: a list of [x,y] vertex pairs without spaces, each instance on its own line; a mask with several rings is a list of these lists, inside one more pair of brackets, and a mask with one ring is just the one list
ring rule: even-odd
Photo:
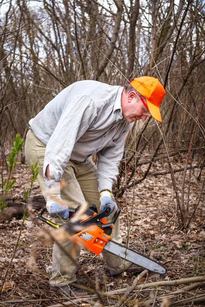
[[[75,142],[86,132],[95,116],[96,107],[89,96],[79,96],[65,104],[46,146],[44,179],[48,188],[59,183]],[[56,192],[59,192],[59,188]]]

